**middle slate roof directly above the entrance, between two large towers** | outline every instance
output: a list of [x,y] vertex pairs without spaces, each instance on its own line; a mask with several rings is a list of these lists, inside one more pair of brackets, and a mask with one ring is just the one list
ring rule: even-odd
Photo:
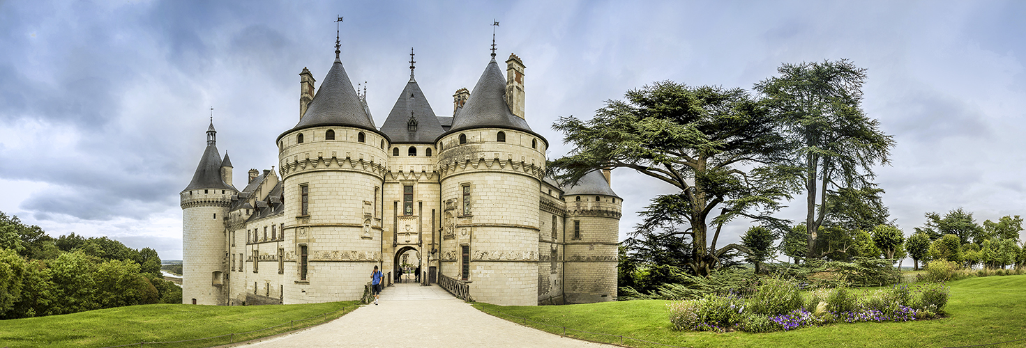
[[[410,114],[412,113],[412,114]],[[410,116],[417,120],[417,131],[410,132],[407,124]],[[382,132],[392,139],[393,143],[433,142],[445,130],[438,122],[438,117],[431,110],[431,104],[412,78],[402,89],[399,98],[395,100],[392,112],[382,125]]]

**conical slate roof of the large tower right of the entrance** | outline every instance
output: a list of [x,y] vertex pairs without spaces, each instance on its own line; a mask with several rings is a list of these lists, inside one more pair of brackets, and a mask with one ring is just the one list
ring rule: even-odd
[[506,77],[495,57],[477,80],[463,110],[452,118],[452,128],[449,131],[492,127],[534,133],[526,121],[510,113],[510,107],[506,104]]

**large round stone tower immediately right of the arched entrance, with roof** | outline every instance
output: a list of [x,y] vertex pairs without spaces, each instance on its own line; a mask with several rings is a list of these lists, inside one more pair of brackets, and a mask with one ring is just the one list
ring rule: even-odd
[[476,301],[538,304],[540,187],[548,142],[513,115],[495,55],[436,140],[442,274]]

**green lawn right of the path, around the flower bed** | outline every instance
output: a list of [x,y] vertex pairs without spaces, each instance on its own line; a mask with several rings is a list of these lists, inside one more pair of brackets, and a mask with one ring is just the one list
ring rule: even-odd
[[[835,323],[770,334],[694,333],[671,329],[669,301],[623,301],[566,306],[496,306],[478,309],[523,323],[509,315],[551,325],[623,335],[684,347],[949,347],[1026,339],[1026,275],[973,277],[952,281],[946,311],[949,317],[909,322]],[[507,315],[508,314],[508,315]],[[562,329],[528,321],[528,325],[560,334]],[[573,332],[571,332],[573,333]],[[620,338],[573,333],[591,341],[618,343]],[[648,347],[641,342],[625,345]],[[1022,347],[1026,340],[989,347]]]

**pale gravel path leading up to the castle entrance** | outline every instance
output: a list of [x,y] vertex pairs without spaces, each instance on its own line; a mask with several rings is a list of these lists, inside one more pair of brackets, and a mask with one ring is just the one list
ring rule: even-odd
[[613,347],[516,324],[485,314],[437,286],[397,284],[379,305],[330,322],[244,347]]

